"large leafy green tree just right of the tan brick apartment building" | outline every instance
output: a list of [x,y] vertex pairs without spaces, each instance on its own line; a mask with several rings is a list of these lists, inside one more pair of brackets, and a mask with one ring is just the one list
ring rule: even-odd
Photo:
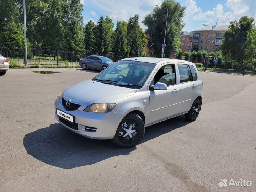
[[239,21],[231,21],[229,29],[224,32],[222,39],[222,54],[235,59],[238,65],[244,65],[247,55],[244,53],[249,46],[248,37],[252,33],[254,19],[242,16]]

